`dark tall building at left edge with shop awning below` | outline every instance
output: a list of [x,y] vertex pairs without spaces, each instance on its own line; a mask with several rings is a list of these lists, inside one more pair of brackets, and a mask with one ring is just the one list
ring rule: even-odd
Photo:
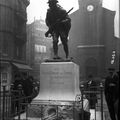
[[26,8],[29,0],[0,0],[0,86],[10,85],[15,74],[31,69],[26,64]]

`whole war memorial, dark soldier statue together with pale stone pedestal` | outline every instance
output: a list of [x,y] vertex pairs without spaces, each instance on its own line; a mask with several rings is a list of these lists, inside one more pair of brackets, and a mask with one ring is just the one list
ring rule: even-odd
[[[68,12],[58,5],[57,0],[48,0],[49,9],[46,14],[48,31],[46,37],[53,39],[53,59],[45,60],[40,64],[40,89],[29,107],[29,117],[42,120],[79,120],[87,113],[90,120],[89,101],[83,98],[79,88],[79,65],[69,58],[68,34],[71,28],[71,19]],[[66,58],[58,56],[59,38],[63,44]],[[79,98],[80,98],[79,97]],[[82,106],[82,107],[81,107]],[[80,113],[80,114],[79,114]]]

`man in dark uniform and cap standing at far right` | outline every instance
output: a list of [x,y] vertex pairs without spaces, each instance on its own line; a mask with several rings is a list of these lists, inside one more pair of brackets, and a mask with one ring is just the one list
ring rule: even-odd
[[107,102],[108,110],[110,113],[111,120],[116,119],[116,112],[115,112],[115,102],[118,99],[118,82],[119,77],[115,73],[114,68],[108,68],[109,75],[105,79],[105,99]]

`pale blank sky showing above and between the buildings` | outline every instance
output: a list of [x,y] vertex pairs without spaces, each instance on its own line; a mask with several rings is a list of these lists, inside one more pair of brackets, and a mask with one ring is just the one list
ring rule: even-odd
[[[59,4],[67,11],[74,7],[73,11],[78,9],[78,0],[58,0]],[[27,8],[27,23],[31,23],[34,19],[45,19],[46,11],[48,8],[48,0],[30,0],[30,5]],[[115,11],[119,8],[119,0],[103,0],[103,7]],[[115,16],[115,26],[117,34],[119,32],[119,13],[117,12]],[[115,33],[116,33],[115,32]]]

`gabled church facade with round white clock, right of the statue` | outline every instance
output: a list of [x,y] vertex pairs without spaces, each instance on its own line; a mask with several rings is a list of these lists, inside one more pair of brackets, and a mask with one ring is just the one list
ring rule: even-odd
[[91,74],[102,79],[109,67],[118,71],[120,39],[114,37],[115,12],[103,8],[101,0],[79,0],[79,9],[70,17],[70,57],[80,66],[80,80]]

